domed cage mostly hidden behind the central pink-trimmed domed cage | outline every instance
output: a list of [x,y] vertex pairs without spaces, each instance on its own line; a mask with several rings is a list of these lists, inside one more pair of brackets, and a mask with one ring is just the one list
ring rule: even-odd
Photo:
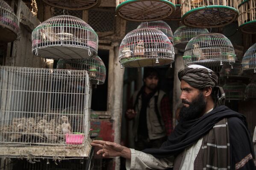
[[171,42],[173,42],[174,35],[171,31],[171,27],[167,23],[165,23],[165,21],[159,20],[159,21],[143,22],[137,27],[137,29],[145,28],[145,27],[159,29],[169,38]]

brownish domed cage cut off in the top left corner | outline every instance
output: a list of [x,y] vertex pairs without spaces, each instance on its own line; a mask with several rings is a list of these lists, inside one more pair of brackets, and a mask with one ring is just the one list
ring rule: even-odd
[[17,39],[18,18],[12,8],[0,0],[0,42],[12,42]]

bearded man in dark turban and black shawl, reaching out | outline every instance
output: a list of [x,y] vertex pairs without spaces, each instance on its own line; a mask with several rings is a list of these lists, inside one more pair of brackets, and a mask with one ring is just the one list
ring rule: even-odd
[[[179,71],[183,107],[179,124],[159,149],[142,152],[114,142],[93,141],[103,157],[122,156],[132,170],[255,170],[246,118],[223,104],[212,70],[190,65]],[[218,103],[219,102],[219,103]]]

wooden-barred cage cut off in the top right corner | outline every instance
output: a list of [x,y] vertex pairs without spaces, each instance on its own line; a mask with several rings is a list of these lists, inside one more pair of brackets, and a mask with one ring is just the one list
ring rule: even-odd
[[247,34],[256,33],[256,1],[238,0],[238,26],[242,32]]

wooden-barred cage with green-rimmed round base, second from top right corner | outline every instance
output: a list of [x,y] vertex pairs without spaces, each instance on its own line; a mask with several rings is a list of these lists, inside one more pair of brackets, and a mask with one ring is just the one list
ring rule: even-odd
[[226,26],[238,17],[237,0],[181,0],[182,23],[197,28]]

